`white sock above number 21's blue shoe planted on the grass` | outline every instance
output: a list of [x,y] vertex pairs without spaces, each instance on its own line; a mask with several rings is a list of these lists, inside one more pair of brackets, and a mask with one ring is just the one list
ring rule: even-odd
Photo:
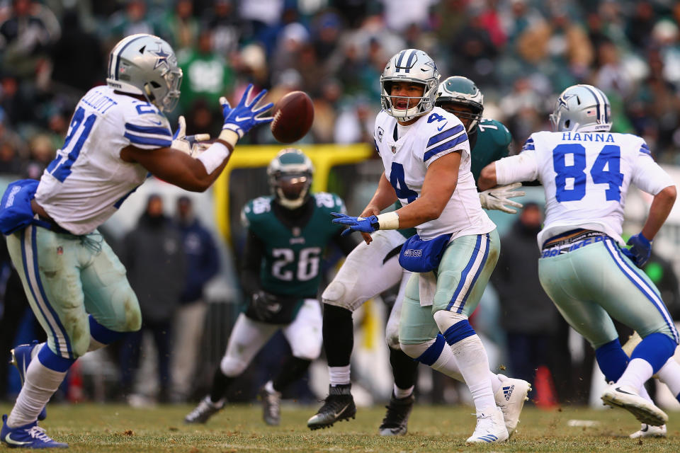
[[26,381],[21,387],[19,396],[16,397],[16,403],[7,418],[7,425],[16,428],[38,420],[38,414],[62,384],[64,377],[66,372],[49,369],[37,358],[31,360],[26,369]]

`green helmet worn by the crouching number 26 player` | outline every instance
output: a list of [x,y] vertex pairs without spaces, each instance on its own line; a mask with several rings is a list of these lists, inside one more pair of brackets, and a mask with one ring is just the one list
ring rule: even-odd
[[271,194],[289,210],[305,204],[310,196],[313,175],[312,159],[295,148],[278,151],[267,167]]

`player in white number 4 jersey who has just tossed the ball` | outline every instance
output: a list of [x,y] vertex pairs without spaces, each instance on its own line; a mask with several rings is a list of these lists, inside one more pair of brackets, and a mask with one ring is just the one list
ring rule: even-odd
[[[503,442],[509,434],[494,398],[499,377],[467,320],[496,265],[499,237],[480,204],[465,126],[434,105],[438,84],[436,64],[421,50],[402,50],[387,62],[374,130],[385,172],[359,217],[336,214],[334,222],[361,231],[366,243],[377,230],[416,228],[399,253],[399,264],[414,272],[404,289],[399,346],[465,381],[477,411],[467,442]],[[380,214],[397,200],[403,207]]]

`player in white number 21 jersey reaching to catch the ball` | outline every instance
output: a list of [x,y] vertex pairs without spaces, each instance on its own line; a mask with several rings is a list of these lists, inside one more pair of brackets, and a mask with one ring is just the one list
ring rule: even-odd
[[[23,386],[0,440],[8,447],[67,447],[38,426],[45,404],[69,367],[142,322],[125,267],[97,228],[144,183],[148,173],[186,190],[203,191],[220,176],[237,141],[271,103],[251,87],[231,108],[217,141],[197,159],[177,149],[164,115],[180,95],[181,69],[172,47],[154,35],[124,38],[108,60],[106,86],[79,101],[64,145],[40,181],[11,183],[1,202],[0,231],[47,343],[13,350]],[[189,148],[189,151],[191,149]]]

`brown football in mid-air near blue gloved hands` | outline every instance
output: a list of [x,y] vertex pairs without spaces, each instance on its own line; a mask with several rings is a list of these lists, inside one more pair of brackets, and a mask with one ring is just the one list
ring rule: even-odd
[[304,91],[291,91],[280,98],[271,112],[271,133],[281,143],[293,143],[310,132],[314,105]]

